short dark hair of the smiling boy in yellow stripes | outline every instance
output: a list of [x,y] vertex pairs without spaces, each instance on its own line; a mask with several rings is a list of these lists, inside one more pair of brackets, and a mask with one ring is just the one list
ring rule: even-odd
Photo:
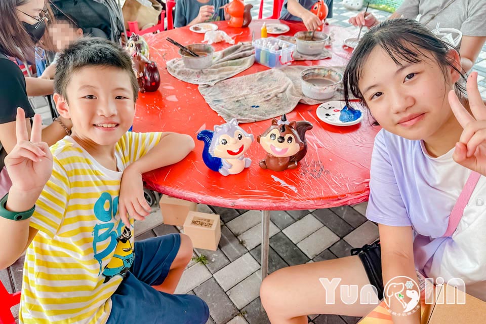
[[126,71],[130,76],[133,99],[137,100],[138,82],[130,56],[120,45],[99,37],[81,37],[60,54],[54,91],[67,100],[66,88],[71,75],[87,66],[115,67]]

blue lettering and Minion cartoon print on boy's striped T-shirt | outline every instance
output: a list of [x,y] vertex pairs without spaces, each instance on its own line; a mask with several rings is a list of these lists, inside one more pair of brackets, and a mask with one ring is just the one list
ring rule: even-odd
[[[125,227],[121,220],[115,219],[118,212],[118,197],[114,199],[108,192],[103,192],[94,206],[94,214],[102,223],[93,228],[93,253],[95,260],[98,261],[100,269],[99,274],[105,276],[104,282],[109,281],[113,276],[120,275],[124,277],[132,266],[134,259],[134,250],[130,239],[132,231]],[[106,248],[98,251],[99,245],[106,245]],[[114,255],[110,262],[103,269],[103,259],[111,253]]]

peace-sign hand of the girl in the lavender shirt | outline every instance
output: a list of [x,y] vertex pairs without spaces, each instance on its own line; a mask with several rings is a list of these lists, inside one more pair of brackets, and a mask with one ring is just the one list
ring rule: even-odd
[[463,167],[486,176],[486,106],[477,89],[477,72],[472,72],[466,86],[471,114],[459,101],[454,90],[449,92],[449,104],[459,124],[464,128],[456,143],[454,160]]

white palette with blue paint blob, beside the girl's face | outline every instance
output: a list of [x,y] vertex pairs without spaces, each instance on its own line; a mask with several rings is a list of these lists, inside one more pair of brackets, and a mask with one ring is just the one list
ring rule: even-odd
[[339,100],[325,102],[315,112],[324,123],[334,126],[356,125],[363,119],[361,110],[349,109],[344,101]]

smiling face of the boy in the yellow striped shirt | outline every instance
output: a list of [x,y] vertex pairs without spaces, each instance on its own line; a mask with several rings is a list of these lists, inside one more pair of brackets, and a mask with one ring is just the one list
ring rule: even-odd
[[93,145],[114,145],[132,126],[134,94],[123,69],[84,67],[73,72],[66,94],[63,117],[71,118],[73,137]]

